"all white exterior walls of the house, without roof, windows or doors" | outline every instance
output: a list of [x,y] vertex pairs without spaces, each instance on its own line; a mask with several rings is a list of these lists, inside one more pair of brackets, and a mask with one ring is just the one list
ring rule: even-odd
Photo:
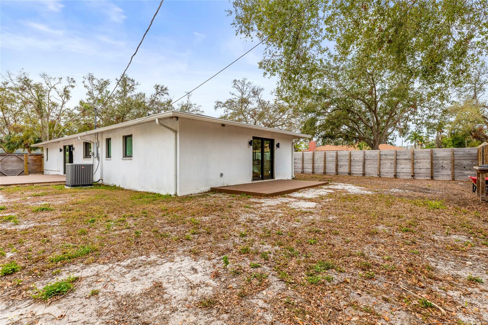
[[[292,135],[183,117],[161,122],[177,130],[177,195],[208,191],[212,186],[252,182],[252,147],[248,143],[252,137],[274,139],[274,179],[293,178]],[[131,160],[124,160],[122,139],[129,134],[132,134],[133,155]],[[94,135],[82,138],[94,139]],[[171,131],[151,121],[108,131],[99,138],[100,165],[95,180],[101,178],[102,183],[127,189],[174,194],[175,140]],[[105,151],[107,138],[112,140],[109,159]],[[280,143],[280,148],[276,148],[276,143]],[[63,174],[60,148],[68,144],[75,148],[74,163],[92,162],[82,158],[82,141],[77,138],[46,144],[45,174]],[[94,169],[98,163],[95,159]]]

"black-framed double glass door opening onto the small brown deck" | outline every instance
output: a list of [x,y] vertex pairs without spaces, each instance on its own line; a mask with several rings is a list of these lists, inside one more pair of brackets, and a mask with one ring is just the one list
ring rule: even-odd
[[252,180],[272,179],[274,140],[252,138]]

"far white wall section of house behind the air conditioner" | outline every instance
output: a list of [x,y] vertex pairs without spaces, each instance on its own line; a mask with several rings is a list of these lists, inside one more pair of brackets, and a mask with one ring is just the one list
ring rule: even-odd
[[[93,135],[83,136],[82,139],[95,141],[95,137]],[[75,139],[68,139],[62,140],[58,143],[50,143],[46,144],[43,148],[44,154],[44,174],[60,174],[64,173],[63,171],[63,162],[64,156],[62,151],[64,145],[72,144],[74,147],[73,150],[73,163],[92,163],[92,158],[83,158],[83,142],[78,138]],[[92,144],[93,148],[93,144]],[[48,153],[46,154],[46,149],[48,149]],[[93,170],[97,169],[98,161],[94,160],[94,167]],[[95,180],[100,178],[100,166],[95,173]]]

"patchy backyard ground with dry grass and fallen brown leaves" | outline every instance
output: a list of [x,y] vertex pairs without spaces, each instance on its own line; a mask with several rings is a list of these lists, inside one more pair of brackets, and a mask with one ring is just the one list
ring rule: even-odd
[[[101,299],[95,298],[102,302],[100,319],[137,314],[140,323],[158,318],[178,324],[182,319],[171,317],[180,309],[171,304],[179,293],[170,290],[184,284],[190,291],[180,296],[189,300],[177,301],[178,308],[185,319],[205,324],[264,322],[263,316],[304,324],[342,324],[353,318],[357,324],[383,324],[386,319],[392,324],[483,323],[483,295],[470,295],[466,302],[452,294],[485,289],[478,282],[483,281],[479,268],[470,265],[488,258],[488,207],[479,204],[470,183],[320,174],[299,178],[339,184],[333,192],[310,198],[219,193],[172,197],[106,185],[2,189],[7,200],[3,210],[16,217],[0,219],[0,258],[2,263],[15,258],[22,264],[15,275],[4,278],[8,284],[2,290],[14,299],[8,308],[28,304],[36,283],[56,281],[35,291],[42,300],[72,291],[76,280],[52,277],[76,270],[83,275],[76,282],[82,294],[72,295],[69,303],[84,304],[100,294]],[[349,192],[354,186],[371,194]],[[52,210],[34,212],[38,207]],[[12,225],[14,219],[18,226]],[[182,272],[162,278],[158,261],[177,265],[180,258],[194,261],[195,267],[183,265]],[[131,272],[107,276],[105,270],[118,263]],[[100,274],[85,272],[90,268]],[[131,278],[142,271],[142,278]],[[467,277],[471,273],[476,276]],[[199,292],[202,276],[207,278]],[[182,285],[163,286],[174,279]],[[140,290],[116,295],[114,285],[124,281],[129,287],[136,282]],[[162,308],[153,309],[154,302]],[[466,313],[442,315],[434,304]],[[49,304],[46,308],[52,311]],[[49,321],[49,316],[26,320]]]

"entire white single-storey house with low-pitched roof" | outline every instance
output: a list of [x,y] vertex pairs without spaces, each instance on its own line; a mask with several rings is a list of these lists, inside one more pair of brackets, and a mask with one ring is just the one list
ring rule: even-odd
[[185,195],[212,186],[293,178],[293,142],[310,136],[169,111],[36,144],[44,174],[94,163],[94,179]]

